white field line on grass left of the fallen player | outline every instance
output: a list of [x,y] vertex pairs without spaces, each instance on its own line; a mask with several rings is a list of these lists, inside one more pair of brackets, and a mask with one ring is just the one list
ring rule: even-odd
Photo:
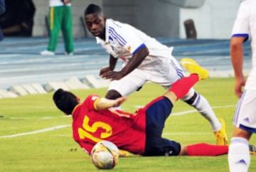
[[47,132],[47,131],[54,131],[57,129],[63,129],[66,127],[70,127],[70,125],[58,125],[55,127],[50,127],[50,128],[46,128],[46,129],[38,129],[35,131],[30,131],[30,132],[25,132],[25,133],[19,133],[19,134],[11,134],[11,135],[6,135],[6,136],[0,136],[1,138],[12,138],[12,137],[16,137],[16,136],[26,136],[26,135],[31,135],[31,134],[38,134],[38,133],[43,133],[43,132]]

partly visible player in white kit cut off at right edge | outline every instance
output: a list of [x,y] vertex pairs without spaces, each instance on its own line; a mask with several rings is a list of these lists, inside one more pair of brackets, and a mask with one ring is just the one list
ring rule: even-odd
[[[233,137],[228,152],[231,172],[248,171],[250,151],[248,142],[256,132],[256,1],[242,1],[233,26],[230,40],[230,56],[235,73],[235,95],[240,98],[233,119]],[[247,80],[242,72],[242,44],[250,36],[252,69]]]

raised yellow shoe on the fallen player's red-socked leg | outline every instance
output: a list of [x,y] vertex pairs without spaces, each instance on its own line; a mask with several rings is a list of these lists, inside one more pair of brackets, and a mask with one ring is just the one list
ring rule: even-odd
[[190,73],[196,73],[199,76],[199,80],[205,80],[209,77],[208,70],[202,68],[195,60],[191,58],[183,58],[181,59],[181,65],[183,68],[188,70]]

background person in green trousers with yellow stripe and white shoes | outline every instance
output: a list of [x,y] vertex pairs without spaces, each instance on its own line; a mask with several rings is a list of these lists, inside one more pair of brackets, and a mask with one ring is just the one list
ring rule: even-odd
[[65,54],[73,55],[73,19],[70,0],[50,0],[49,6],[49,41],[47,50],[43,50],[41,55],[55,55],[60,31],[63,33]]

